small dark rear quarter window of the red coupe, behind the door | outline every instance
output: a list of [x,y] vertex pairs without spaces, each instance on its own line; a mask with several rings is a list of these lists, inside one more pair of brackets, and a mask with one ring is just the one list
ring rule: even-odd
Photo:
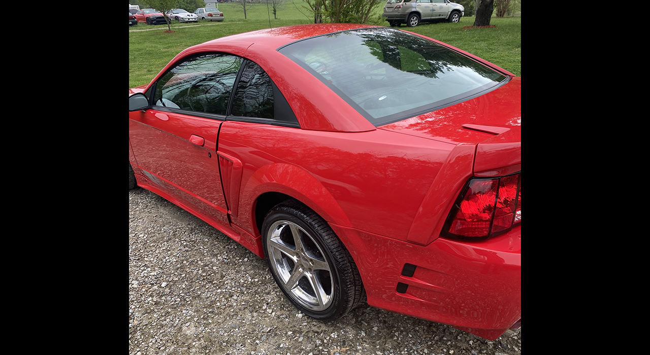
[[260,66],[247,62],[235,92],[232,114],[273,119],[273,102],[271,79]]

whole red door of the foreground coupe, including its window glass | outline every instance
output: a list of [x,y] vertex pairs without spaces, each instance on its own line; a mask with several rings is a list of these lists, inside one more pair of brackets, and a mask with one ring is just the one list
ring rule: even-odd
[[242,61],[220,53],[185,58],[149,88],[148,110],[129,117],[133,153],[151,183],[225,225],[217,136]]

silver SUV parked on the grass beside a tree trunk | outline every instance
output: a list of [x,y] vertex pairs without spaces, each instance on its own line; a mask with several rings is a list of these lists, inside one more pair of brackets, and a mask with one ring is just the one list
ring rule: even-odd
[[395,27],[406,23],[415,27],[421,21],[458,22],[465,15],[465,7],[449,0],[388,0],[383,6],[383,17]]

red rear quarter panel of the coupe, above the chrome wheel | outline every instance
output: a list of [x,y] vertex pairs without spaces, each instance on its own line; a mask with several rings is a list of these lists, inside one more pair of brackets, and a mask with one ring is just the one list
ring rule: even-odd
[[[253,235],[258,234],[252,221],[255,199],[281,188],[278,192],[288,192],[328,222],[406,239],[453,148],[384,130],[322,132],[226,121],[218,151],[244,164],[237,224]],[[274,164],[276,169],[265,168]],[[288,181],[286,176],[300,175],[286,171],[290,167],[307,177]]]

